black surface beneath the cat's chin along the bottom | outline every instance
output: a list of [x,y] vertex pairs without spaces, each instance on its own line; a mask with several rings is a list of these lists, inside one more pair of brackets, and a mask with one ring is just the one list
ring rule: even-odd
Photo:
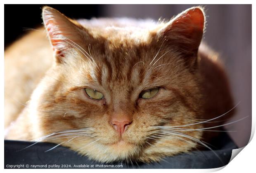
[[[37,143],[36,145],[24,149],[33,143],[5,140],[5,168],[10,168],[9,166],[11,165],[19,165],[20,168],[26,168],[26,165],[28,165],[28,168],[32,168],[31,165],[44,165],[46,168],[50,165],[58,165],[60,168],[75,168],[74,165],[80,166],[80,168],[109,168],[109,166],[106,167],[106,165],[116,166],[121,164],[123,165],[122,168],[218,168],[228,164],[232,149],[237,148],[237,146],[225,133],[215,141],[217,141],[217,143],[214,146],[218,147],[218,150],[214,150],[215,154],[211,150],[193,151],[174,157],[166,157],[164,161],[148,165],[143,163],[102,164],[89,160],[87,157],[78,155],[76,152],[62,146],[45,152],[56,146],[56,144],[52,143]],[[222,161],[220,161],[220,159]],[[84,167],[86,165],[89,167]],[[90,167],[92,165],[94,165],[94,167]],[[100,167],[96,167],[96,165]]]

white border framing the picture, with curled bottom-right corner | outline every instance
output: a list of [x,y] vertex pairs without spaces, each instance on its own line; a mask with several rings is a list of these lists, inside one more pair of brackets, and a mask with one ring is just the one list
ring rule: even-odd
[[[168,0],[147,0],[147,1],[140,1],[138,2],[138,0],[129,0],[129,1],[117,1],[117,0],[93,0],[93,1],[83,1],[83,0],[72,0],[72,1],[66,1],[64,2],[63,0],[22,0],[22,1],[19,1],[19,0],[3,0],[4,4],[20,4],[20,2],[24,3],[24,4],[68,4],[69,2],[72,2],[73,4],[84,4],[85,2],[88,3],[88,4],[180,4],[181,2],[183,4],[253,4],[253,0],[208,0],[208,1],[203,1],[203,0],[172,0],[172,1],[168,1]],[[255,4],[252,5],[252,26],[253,26],[253,29],[252,30],[256,30],[255,28]],[[1,19],[2,21],[4,21],[4,5],[1,6]],[[15,21],[14,21],[15,22]],[[1,31],[2,31],[2,48],[4,47],[4,28],[1,27]],[[252,47],[254,47],[254,42],[255,42],[255,34],[252,33]],[[4,51],[2,49],[2,57],[4,57]],[[256,58],[255,56],[255,50],[253,49],[252,51],[252,57]],[[255,86],[255,80],[254,80],[254,75],[255,75],[255,60],[254,58],[252,58],[252,76],[253,76],[253,79],[252,79],[252,86]],[[3,111],[4,111],[4,98],[3,98],[3,94],[4,94],[4,84],[3,84],[3,80],[4,80],[4,77],[3,77],[3,72],[4,72],[4,59],[2,58],[1,61],[0,61],[0,78],[1,78],[1,82],[0,82],[0,87],[1,87],[1,107],[0,107],[0,110],[1,110],[1,113],[2,113],[2,117],[4,115]],[[253,170],[255,170],[255,148],[254,146],[256,146],[256,142],[255,142],[255,139],[252,139],[253,135],[254,135],[254,131],[255,131],[255,102],[254,102],[254,98],[255,98],[255,92],[252,91],[252,133],[251,133],[251,138],[250,138],[250,143],[249,145],[247,145],[244,150],[239,153],[237,157],[235,157],[227,166],[225,166],[225,168],[221,169],[220,172],[241,172],[241,171],[244,171],[245,168],[248,170],[248,172],[251,172]],[[4,121],[2,121],[2,129],[4,129]],[[2,132],[3,134],[3,132]],[[3,136],[3,135],[2,135]],[[3,153],[3,142],[1,144],[1,166],[2,168],[4,168],[4,153]],[[181,170],[181,169],[172,169],[172,170],[169,170],[169,169],[164,169],[164,170],[161,170],[161,172],[168,172],[170,173],[171,172],[195,172],[195,173],[199,173],[199,172],[213,172],[213,171],[218,171],[220,170],[220,168],[216,168],[216,169],[200,169],[200,170]],[[250,171],[249,171],[250,170]],[[21,171],[21,172],[35,172],[35,170],[7,170],[5,169],[4,171],[7,171],[7,172],[12,172],[12,171]],[[42,169],[42,170],[36,170],[38,173],[45,173],[45,169]],[[48,171],[48,170],[47,170]],[[50,170],[49,170],[50,171]],[[70,172],[71,170],[54,170],[55,172]],[[76,170],[78,172],[97,172],[99,170],[83,170],[83,169],[80,169],[80,170]],[[104,172],[111,172],[113,173],[114,172],[129,172],[130,173],[130,169],[122,169],[122,170],[107,170],[107,169],[104,169],[104,170],[100,170],[100,171],[104,171]],[[132,170],[132,171],[138,171],[138,170]],[[147,172],[155,172],[156,170],[153,170],[153,169],[147,169],[147,170],[140,170],[140,171],[147,171]],[[160,170],[159,170],[160,171]]]

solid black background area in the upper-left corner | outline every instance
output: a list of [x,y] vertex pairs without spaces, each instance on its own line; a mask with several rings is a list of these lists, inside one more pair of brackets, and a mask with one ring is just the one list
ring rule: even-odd
[[43,26],[42,7],[50,6],[72,19],[91,19],[100,15],[101,5],[87,4],[5,4],[5,48],[17,38],[29,32],[27,28],[36,29]]

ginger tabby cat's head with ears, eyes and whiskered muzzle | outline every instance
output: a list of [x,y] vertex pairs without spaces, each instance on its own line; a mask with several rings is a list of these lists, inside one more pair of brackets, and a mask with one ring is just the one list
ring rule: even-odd
[[[92,30],[49,7],[43,17],[56,54],[56,64],[33,94],[40,134],[54,133],[45,141],[99,161],[149,162],[197,145],[191,138],[201,132],[184,132],[186,137],[170,126],[195,123],[200,115],[201,9],[142,34]],[[192,25],[184,30],[187,21]]]

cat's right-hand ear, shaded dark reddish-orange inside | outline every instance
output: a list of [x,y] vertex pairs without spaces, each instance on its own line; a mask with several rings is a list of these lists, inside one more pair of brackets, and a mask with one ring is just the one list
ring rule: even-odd
[[192,7],[166,23],[157,34],[184,53],[196,54],[204,33],[204,20],[203,9]]

